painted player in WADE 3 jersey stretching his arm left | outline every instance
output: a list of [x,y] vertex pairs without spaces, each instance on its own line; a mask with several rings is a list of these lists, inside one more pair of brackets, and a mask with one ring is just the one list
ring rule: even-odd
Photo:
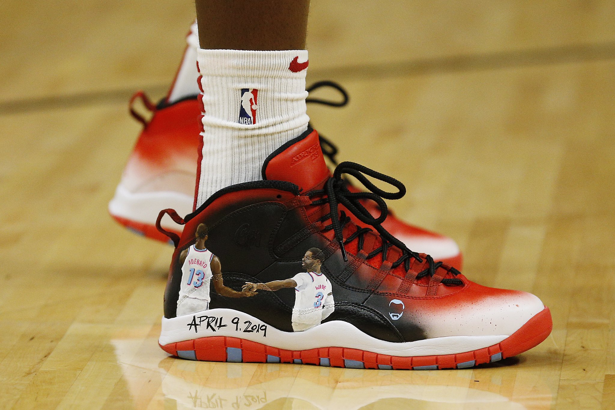
[[295,307],[293,307],[293,331],[299,332],[320,325],[333,313],[335,301],[331,282],[320,272],[322,261],[316,258],[319,248],[309,248],[301,261],[307,272],[300,272],[290,279],[274,280],[268,283],[246,282],[244,291],[295,288]]

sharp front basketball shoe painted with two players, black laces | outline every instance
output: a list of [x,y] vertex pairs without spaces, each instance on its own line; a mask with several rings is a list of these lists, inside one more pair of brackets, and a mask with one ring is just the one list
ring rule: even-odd
[[[403,184],[353,162],[331,175],[311,128],[273,152],[262,174],[263,181],[216,192],[183,219],[170,209],[157,218],[175,243],[159,337],[171,355],[468,368],[549,335],[549,309],[533,294],[470,282],[387,232],[383,198],[402,197]],[[350,191],[345,174],[371,192]],[[181,237],[160,226],[165,214],[184,226]]]

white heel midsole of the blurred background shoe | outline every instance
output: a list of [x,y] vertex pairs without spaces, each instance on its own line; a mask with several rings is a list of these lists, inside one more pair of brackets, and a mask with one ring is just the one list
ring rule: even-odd
[[[192,197],[173,191],[130,192],[119,184],[109,202],[111,215],[150,225],[154,225],[158,213],[167,208],[174,209],[182,217],[188,215],[192,212]],[[162,219],[161,226],[175,231],[180,229],[168,217]]]

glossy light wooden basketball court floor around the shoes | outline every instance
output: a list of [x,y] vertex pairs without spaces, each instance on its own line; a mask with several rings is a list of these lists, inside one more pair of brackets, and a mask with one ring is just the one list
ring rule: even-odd
[[[340,159],[464,273],[537,294],[552,336],[455,371],[195,363],[157,346],[172,248],[106,211],[189,1],[0,5],[0,408],[615,408],[615,3],[314,0],[309,108]],[[323,92],[323,95],[326,95]]]

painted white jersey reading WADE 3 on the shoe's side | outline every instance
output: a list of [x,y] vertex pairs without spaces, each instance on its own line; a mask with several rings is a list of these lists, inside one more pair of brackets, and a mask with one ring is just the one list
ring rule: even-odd
[[301,272],[293,277],[295,307],[293,307],[293,329],[301,331],[318,325],[333,312],[331,282],[323,274]]

